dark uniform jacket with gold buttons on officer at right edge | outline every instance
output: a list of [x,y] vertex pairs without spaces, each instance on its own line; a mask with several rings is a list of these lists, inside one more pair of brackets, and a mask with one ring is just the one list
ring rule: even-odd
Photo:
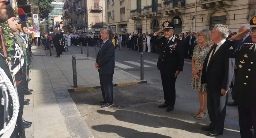
[[246,107],[256,108],[256,51],[255,44],[243,44],[233,53],[238,62],[234,98]]

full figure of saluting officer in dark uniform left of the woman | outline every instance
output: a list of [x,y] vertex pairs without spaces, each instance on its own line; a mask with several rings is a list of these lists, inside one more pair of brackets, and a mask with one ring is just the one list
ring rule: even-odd
[[[174,35],[175,26],[165,21],[162,24],[163,30],[155,32],[150,42],[159,45],[159,58],[157,68],[160,70],[165,102],[158,107],[167,107],[166,111],[172,111],[175,104],[175,82],[178,74],[183,70],[184,51],[182,41]],[[157,40],[161,33],[165,37]]]

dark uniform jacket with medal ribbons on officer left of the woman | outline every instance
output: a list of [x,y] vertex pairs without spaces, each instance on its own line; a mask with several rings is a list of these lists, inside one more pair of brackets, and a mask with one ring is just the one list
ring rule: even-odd
[[184,50],[182,41],[175,36],[167,43],[167,38],[162,37],[157,40],[157,36],[152,36],[150,42],[159,45],[159,57],[157,68],[159,70],[168,69],[172,72],[182,71],[184,65]]

